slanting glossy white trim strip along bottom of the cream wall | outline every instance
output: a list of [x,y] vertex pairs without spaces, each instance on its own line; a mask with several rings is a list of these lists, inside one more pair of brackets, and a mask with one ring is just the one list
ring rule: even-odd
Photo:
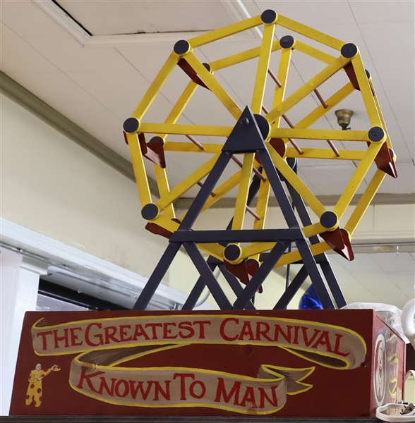
[[[138,288],[138,293],[147,283],[148,278],[124,269],[121,266],[107,262],[99,257],[90,255],[75,247],[61,243],[41,233],[20,226],[17,223],[0,217],[0,240],[1,243],[17,249],[30,252],[46,259],[62,263],[76,270],[95,271],[104,274],[116,281],[128,283]],[[157,300],[165,300],[165,303],[176,302],[184,304],[187,296],[169,286],[161,285],[156,291]]]

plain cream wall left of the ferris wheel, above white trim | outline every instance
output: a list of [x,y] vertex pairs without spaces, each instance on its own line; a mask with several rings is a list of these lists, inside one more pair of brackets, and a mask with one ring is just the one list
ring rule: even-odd
[[3,95],[0,130],[4,219],[150,276],[167,240],[145,231],[135,183]]

